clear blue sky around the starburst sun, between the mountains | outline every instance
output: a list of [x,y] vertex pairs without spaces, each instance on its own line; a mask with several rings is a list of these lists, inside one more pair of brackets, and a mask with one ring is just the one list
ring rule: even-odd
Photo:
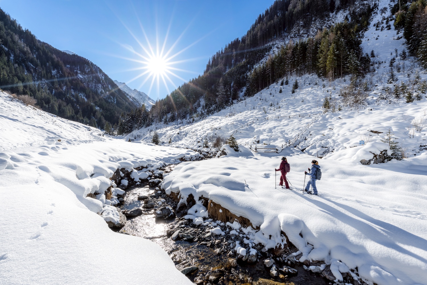
[[175,86],[202,74],[209,57],[234,38],[246,34],[257,16],[273,1],[0,0],[0,7],[41,41],[91,60],[120,82],[129,82],[146,71],[140,69],[145,63],[132,61],[146,62],[137,55],[146,56],[137,40],[149,51],[139,21],[154,50],[156,34],[161,50],[170,26],[164,53],[172,47],[170,57],[183,50],[170,59],[177,62],[170,66],[179,69],[170,70],[176,76],[167,73],[172,82],[164,77],[167,87],[162,79],[157,86],[155,80],[149,92],[152,77],[147,79],[149,73],[146,73],[128,83],[131,88],[158,99]]

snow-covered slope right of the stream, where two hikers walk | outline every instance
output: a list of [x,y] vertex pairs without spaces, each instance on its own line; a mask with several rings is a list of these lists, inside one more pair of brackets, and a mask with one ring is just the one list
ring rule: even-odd
[[[389,1],[380,1],[379,10],[383,7],[389,8]],[[374,24],[388,14],[378,11],[363,39],[364,51],[376,54],[371,58],[375,71],[366,74],[366,85],[360,87],[367,90],[366,105],[343,104],[339,94],[349,77],[328,82],[307,74],[291,77],[289,85],[272,84],[204,120],[159,123],[130,137],[150,141],[156,130],[164,145],[207,152],[204,140],[211,146],[215,135],[233,134],[248,148],[275,148],[278,153],[240,153],[180,165],[164,187],[181,192],[183,198],[209,198],[260,226],[260,231],[245,229],[247,250],[254,243],[266,248],[283,243],[283,231],[303,253],[300,261],[330,264],[338,280],[352,270],[350,274],[357,272],[368,283],[427,284],[427,100],[415,84],[427,75],[414,58],[400,56],[406,46],[394,29],[376,30]],[[397,86],[403,81],[414,97],[421,94],[421,100],[406,103],[405,98],[386,94],[387,87],[397,88],[388,84],[392,57]],[[295,80],[300,87],[292,94]],[[325,97],[335,108],[324,113]],[[362,165],[362,159],[389,151],[381,141],[389,129],[406,158]],[[293,190],[275,189],[274,168],[281,156],[288,156],[291,164]],[[303,197],[299,190],[304,170],[316,156],[324,157],[319,160],[321,196]]]

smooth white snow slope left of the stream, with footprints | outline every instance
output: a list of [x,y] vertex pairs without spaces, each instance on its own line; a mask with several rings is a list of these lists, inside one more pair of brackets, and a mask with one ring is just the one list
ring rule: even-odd
[[[111,231],[117,168],[192,151],[99,136],[0,92],[0,284],[191,284],[158,245]],[[111,207],[111,206],[110,206]]]

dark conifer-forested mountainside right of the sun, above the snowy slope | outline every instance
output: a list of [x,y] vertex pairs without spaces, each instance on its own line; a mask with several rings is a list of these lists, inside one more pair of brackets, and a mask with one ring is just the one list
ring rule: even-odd
[[[148,112],[140,109],[120,120],[119,134],[152,123],[205,118],[272,82],[292,74],[316,72],[333,79],[369,69],[369,55],[360,47],[374,2],[277,0],[260,14],[246,35],[225,45],[209,59],[203,75],[159,100]],[[316,21],[346,9],[344,20],[319,30]],[[296,42],[290,40],[301,38]],[[305,38],[302,40],[302,38]],[[330,56],[328,55],[330,53]],[[267,59],[266,59],[267,58]]]

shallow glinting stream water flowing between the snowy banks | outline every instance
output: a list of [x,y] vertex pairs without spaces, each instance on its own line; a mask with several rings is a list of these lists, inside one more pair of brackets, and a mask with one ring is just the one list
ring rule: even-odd
[[[165,172],[170,172],[173,168],[168,167]],[[157,193],[157,190],[149,185],[131,188],[124,194],[124,202],[120,209],[131,210],[136,207],[142,208],[143,201],[138,200],[139,195],[149,196],[153,202],[164,199],[170,206],[176,206],[176,202],[169,198],[164,192]],[[174,208],[175,209],[175,208]],[[301,265],[295,265],[298,275],[285,277],[283,275],[272,277],[262,263],[262,258],[256,264],[247,264],[245,261],[237,260],[237,264],[230,265],[229,257],[226,253],[215,253],[215,247],[208,247],[206,243],[200,241],[173,241],[170,238],[169,229],[176,227],[180,218],[187,214],[187,209],[176,212],[177,217],[170,220],[159,220],[155,217],[155,209],[143,209],[143,213],[137,217],[129,217],[126,225],[120,229],[120,233],[135,235],[150,239],[160,245],[170,256],[178,270],[185,267],[198,267],[192,274],[187,274],[189,279],[196,284],[211,285],[325,285],[328,282],[318,274],[304,270]],[[192,230],[194,226],[188,223],[186,230]],[[190,228],[190,229],[189,229]],[[196,229],[194,226],[195,232]],[[196,238],[197,239],[197,238]],[[235,258],[234,258],[235,259]],[[281,278],[282,277],[282,278]]]

